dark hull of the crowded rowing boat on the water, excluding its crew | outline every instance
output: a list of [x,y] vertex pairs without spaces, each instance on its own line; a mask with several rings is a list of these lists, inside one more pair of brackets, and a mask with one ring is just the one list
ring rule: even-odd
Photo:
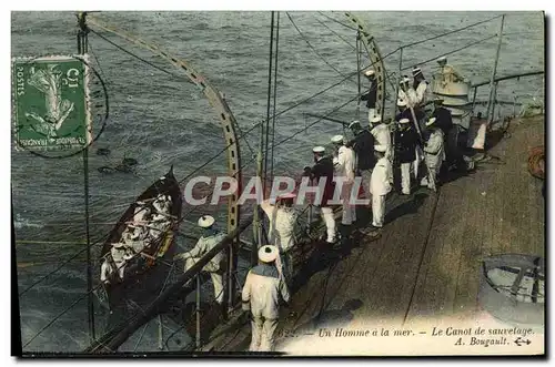
[[[173,175],[173,170],[171,169],[163,177],[164,180],[154,182],[129,206],[102,247],[101,257],[110,252],[113,243],[120,241],[127,227],[125,222],[133,220],[138,201],[153,198],[160,193],[171,196],[172,205],[170,213],[174,220],[172,220],[170,230],[167,231],[154,246],[144,251],[144,256],[138,257],[139,261],[135,264],[125,266],[123,281],[103,285],[104,297],[107,298],[103,303],[110,309],[130,305],[141,306],[151,303],[162,290],[170,275],[170,271],[172,269],[171,264],[175,254],[174,232],[181,221],[183,197],[179,183]],[[99,296],[99,298],[102,298],[102,296]]]

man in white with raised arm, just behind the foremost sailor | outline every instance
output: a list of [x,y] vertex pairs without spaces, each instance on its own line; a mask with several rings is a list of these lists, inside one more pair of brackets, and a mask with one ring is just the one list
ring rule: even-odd
[[292,276],[291,262],[285,253],[296,244],[299,213],[293,207],[295,197],[295,194],[289,193],[278,197],[275,205],[272,205],[270,200],[260,204],[270,222],[269,242],[280,251],[275,265],[285,279]]

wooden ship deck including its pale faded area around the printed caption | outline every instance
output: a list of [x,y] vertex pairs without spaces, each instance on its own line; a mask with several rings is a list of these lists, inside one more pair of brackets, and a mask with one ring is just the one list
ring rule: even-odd
[[[542,181],[527,170],[529,150],[544,144],[544,118],[513,120],[508,133],[490,139],[493,159],[471,174],[450,177],[437,194],[421,187],[410,196],[392,195],[380,238],[357,241],[341,256],[317,256],[282,309],[276,349],[365,354],[353,339],[319,334],[383,327],[408,329],[413,339],[406,343],[405,336],[405,347],[375,339],[366,346],[370,354],[423,353],[415,349],[416,338],[430,336],[428,326],[487,319],[477,300],[481,259],[503,253],[544,256],[545,247]],[[249,341],[244,323],[219,333],[204,350],[246,350]]]

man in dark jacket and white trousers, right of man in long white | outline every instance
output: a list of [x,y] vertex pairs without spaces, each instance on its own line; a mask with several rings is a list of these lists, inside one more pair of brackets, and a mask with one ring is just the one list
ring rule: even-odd
[[401,119],[398,130],[395,132],[395,157],[401,164],[401,192],[404,195],[411,194],[411,165],[416,160],[417,144],[418,134],[411,124],[411,120]]

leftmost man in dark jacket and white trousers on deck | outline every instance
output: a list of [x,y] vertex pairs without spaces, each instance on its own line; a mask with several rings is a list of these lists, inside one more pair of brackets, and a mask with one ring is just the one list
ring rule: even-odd
[[325,156],[325,147],[323,146],[315,146],[312,149],[312,152],[314,154],[314,165],[312,167],[304,167],[303,175],[309,176],[316,185],[320,179],[325,179],[322,202],[316,203],[316,206],[320,206],[320,215],[322,215],[322,220],[325,223],[327,234],[325,242],[333,244],[336,241],[335,217],[333,216],[333,210],[330,205],[330,201],[333,198],[333,193],[335,192],[335,183],[333,182],[333,161]]

